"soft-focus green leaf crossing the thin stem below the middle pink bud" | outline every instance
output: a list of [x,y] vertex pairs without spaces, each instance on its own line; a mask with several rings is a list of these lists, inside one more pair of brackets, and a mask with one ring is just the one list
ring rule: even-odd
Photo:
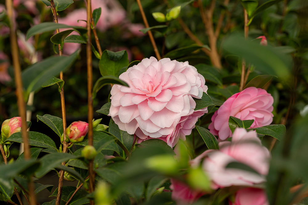
[[39,168],[39,170],[35,172],[35,176],[37,178],[41,178],[44,175],[46,175],[49,171],[58,167],[63,161],[75,158],[77,157],[69,153],[57,152],[57,153],[47,154],[42,158],[40,158],[39,161],[41,162],[42,165]]

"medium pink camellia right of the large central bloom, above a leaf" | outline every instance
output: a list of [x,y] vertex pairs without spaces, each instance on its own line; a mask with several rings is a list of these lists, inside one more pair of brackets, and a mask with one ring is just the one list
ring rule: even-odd
[[254,120],[250,128],[269,125],[273,121],[272,111],[274,98],[261,88],[249,87],[229,97],[214,113],[209,130],[218,140],[232,136],[229,128],[229,117],[241,120]]

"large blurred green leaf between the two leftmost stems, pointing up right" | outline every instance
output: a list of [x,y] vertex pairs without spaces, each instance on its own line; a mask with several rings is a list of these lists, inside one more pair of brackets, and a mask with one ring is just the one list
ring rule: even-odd
[[52,56],[35,63],[22,72],[23,86],[27,92],[36,91],[52,77],[68,69],[76,60],[79,51],[70,56]]

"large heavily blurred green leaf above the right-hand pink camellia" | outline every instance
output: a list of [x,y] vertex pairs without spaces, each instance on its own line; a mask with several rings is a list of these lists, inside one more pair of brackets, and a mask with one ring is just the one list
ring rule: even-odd
[[233,34],[225,39],[222,47],[229,53],[243,57],[247,63],[253,64],[255,69],[263,74],[277,76],[282,81],[288,81],[291,76],[292,59],[290,56],[280,53],[269,45],[262,46],[257,42],[245,40],[244,37]]

